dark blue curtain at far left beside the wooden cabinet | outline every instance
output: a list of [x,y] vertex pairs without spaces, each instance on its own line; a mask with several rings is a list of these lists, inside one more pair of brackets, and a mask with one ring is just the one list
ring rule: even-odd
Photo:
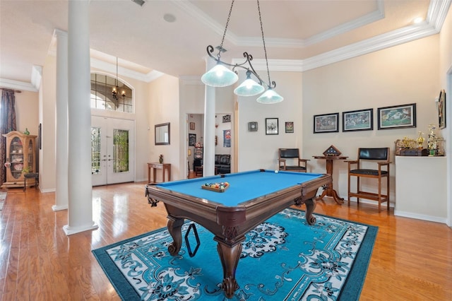
[[[16,109],[13,90],[2,89],[0,102],[0,134],[7,134],[10,131],[16,131]],[[6,138],[0,136],[0,183],[6,182]]]

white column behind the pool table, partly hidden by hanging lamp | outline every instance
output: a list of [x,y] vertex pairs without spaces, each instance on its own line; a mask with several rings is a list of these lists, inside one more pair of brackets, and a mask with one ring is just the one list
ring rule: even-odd
[[[208,57],[207,70],[216,62]],[[203,177],[215,175],[215,88],[206,85],[204,97],[204,141],[203,141]]]

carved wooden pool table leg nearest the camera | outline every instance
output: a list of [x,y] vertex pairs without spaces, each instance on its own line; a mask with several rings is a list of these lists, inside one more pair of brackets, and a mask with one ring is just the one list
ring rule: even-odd
[[227,298],[234,296],[236,290],[239,289],[239,285],[235,280],[235,271],[237,269],[237,264],[239,263],[240,254],[242,253],[242,241],[235,242],[234,245],[225,244],[220,239],[215,237],[218,242],[217,251],[220,255],[221,265],[223,267],[223,282],[222,289],[225,291]]

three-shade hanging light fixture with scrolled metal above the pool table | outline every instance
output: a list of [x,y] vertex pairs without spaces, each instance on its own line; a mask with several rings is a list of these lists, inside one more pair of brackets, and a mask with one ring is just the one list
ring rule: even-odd
[[[266,57],[268,83],[263,81],[262,78],[258,76],[258,73],[256,73],[256,71],[254,70],[254,67],[251,64],[253,56],[248,52],[244,52],[243,56],[245,58],[245,61],[242,64],[228,64],[220,59],[221,53],[226,51],[226,49],[223,48],[223,42],[225,42],[227,26],[229,25],[230,16],[232,13],[232,6],[234,6],[234,0],[232,0],[229,14],[227,16],[225,32],[223,33],[221,44],[220,46],[215,47],[215,49],[218,49],[217,57],[214,57],[212,55],[214,51],[213,46],[208,45],[207,47],[207,54],[209,55],[209,57],[214,59],[217,62],[217,64],[201,77],[201,81],[203,81],[203,83],[205,83],[206,85],[210,85],[212,87],[226,87],[238,81],[239,76],[237,76],[237,69],[242,68],[246,70],[246,80],[241,85],[234,89],[234,93],[236,95],[239,96],[258,95],[262,93],[264,90],[266,90],[266,88],[263,86],[266,85],[267,86],[266,92],[257,98],[257,102],[266,104],[282,102],[284,98],[278,95],[278,93],[276,93],[275,90],[273,90],[276,86],[276,83],[274,81],[270,81],[270,71],[268,69],[266,41],[265,38],[263,37],[261,7],[259,5],[259,0],[257,0],[257,9],[259,14],[259,22],[261,23],[261,35],[263,43],[263,52]],[[227,68],[227,66],[232,67],[232,70]],[[258,83],[251,78],[251,75],[257,78]]]

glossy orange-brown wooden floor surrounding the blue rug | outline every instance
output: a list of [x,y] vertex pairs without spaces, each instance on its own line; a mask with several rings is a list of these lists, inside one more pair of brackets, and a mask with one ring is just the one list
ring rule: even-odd
[[[54,193],[9,189],[0,213],[0,300],[120,300],[91,250],[166,225],[165,208],[150,208],[144,187],[93,188],[99,229],[69,237],[62,230],[67,211],[52,211]],[[446,225],[328,198],[315,213],[379,226],[360,300],[452,300],[452,230]]]

